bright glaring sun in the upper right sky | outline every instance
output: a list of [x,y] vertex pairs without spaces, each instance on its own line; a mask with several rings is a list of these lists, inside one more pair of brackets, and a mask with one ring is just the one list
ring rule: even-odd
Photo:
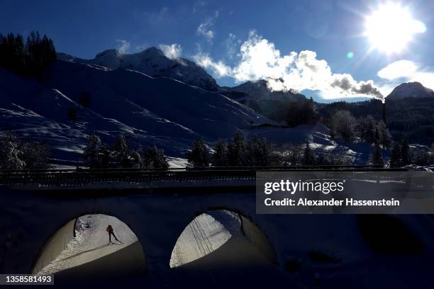
[[386,53],[404,50],[415,33],[424,33],[425,25],[415,20],[406,8],[399,4],[379,6],[366,17],[365,35],[374,48]]

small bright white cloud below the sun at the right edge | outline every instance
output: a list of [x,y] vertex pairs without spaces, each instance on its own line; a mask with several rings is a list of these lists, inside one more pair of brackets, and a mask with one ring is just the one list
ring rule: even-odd
[[[410,60],[392,62],[377,72],[382,79],[395,84],[396,80],[404,78],[406,81],[418,81],[429,89],[434,89],[434,72],[430,69],[421,69]],[[387,84],[386,84],[387,85]]]

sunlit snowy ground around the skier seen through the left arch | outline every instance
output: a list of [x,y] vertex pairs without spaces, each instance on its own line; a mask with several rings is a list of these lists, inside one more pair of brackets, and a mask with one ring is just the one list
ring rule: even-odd
[[[114,234],[121,242],[117,242],[112,237],[112,243],[109,244],[109,234],[106,232],[108,225],[113,227]],[[66,270],[89,263],[138,242],[135,234],[125,223],[108,215],[96,214],[79,217],[75,232],[76,237],[67,244],[66,249],[41,271],[35,273],[48,275]],[[50,250],[50,248],[45,249]]]

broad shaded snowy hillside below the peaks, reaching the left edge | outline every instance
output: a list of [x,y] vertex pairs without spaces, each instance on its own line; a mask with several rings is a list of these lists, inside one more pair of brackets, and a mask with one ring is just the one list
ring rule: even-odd
[[[86,107],[80,105],[84,96]],[[171,157],[184,157],[199,137],[213,142],[273,123],[226,96],[180,81],[61,60],[39,82],[0,69],[0,115],[1,131],[48,142],[53,157],[74,161],[92,132],[108,143],[122,133],[134,146],[155,144]]]

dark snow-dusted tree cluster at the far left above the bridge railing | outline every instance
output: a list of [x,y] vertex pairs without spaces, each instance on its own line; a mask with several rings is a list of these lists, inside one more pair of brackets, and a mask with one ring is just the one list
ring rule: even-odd
[[0,137],[0,169],[48,169],[50,156],[43,142],[21,141],[11,132]]

